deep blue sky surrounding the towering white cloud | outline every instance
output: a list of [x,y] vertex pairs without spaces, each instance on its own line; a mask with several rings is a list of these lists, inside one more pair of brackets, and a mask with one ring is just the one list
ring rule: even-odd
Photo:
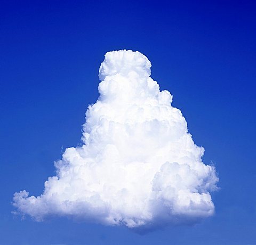
[[[0,244],[256,244],[255,5],[236,1],[3,1]],[[54,160],[80,143],[107,51],[138,50],[219,174],[215,215],[140,235],[125,227],[13,217]]]

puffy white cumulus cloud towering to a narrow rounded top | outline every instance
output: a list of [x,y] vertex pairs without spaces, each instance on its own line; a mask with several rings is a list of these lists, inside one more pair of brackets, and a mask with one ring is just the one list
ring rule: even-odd
[[139,52],[106,53],[83,145],[65,150],[39,197],[14,194],[20,214],[146,227],[197,222],[214,213],[215,169],[202,162],[204,148],[195,145],[150,67]]

